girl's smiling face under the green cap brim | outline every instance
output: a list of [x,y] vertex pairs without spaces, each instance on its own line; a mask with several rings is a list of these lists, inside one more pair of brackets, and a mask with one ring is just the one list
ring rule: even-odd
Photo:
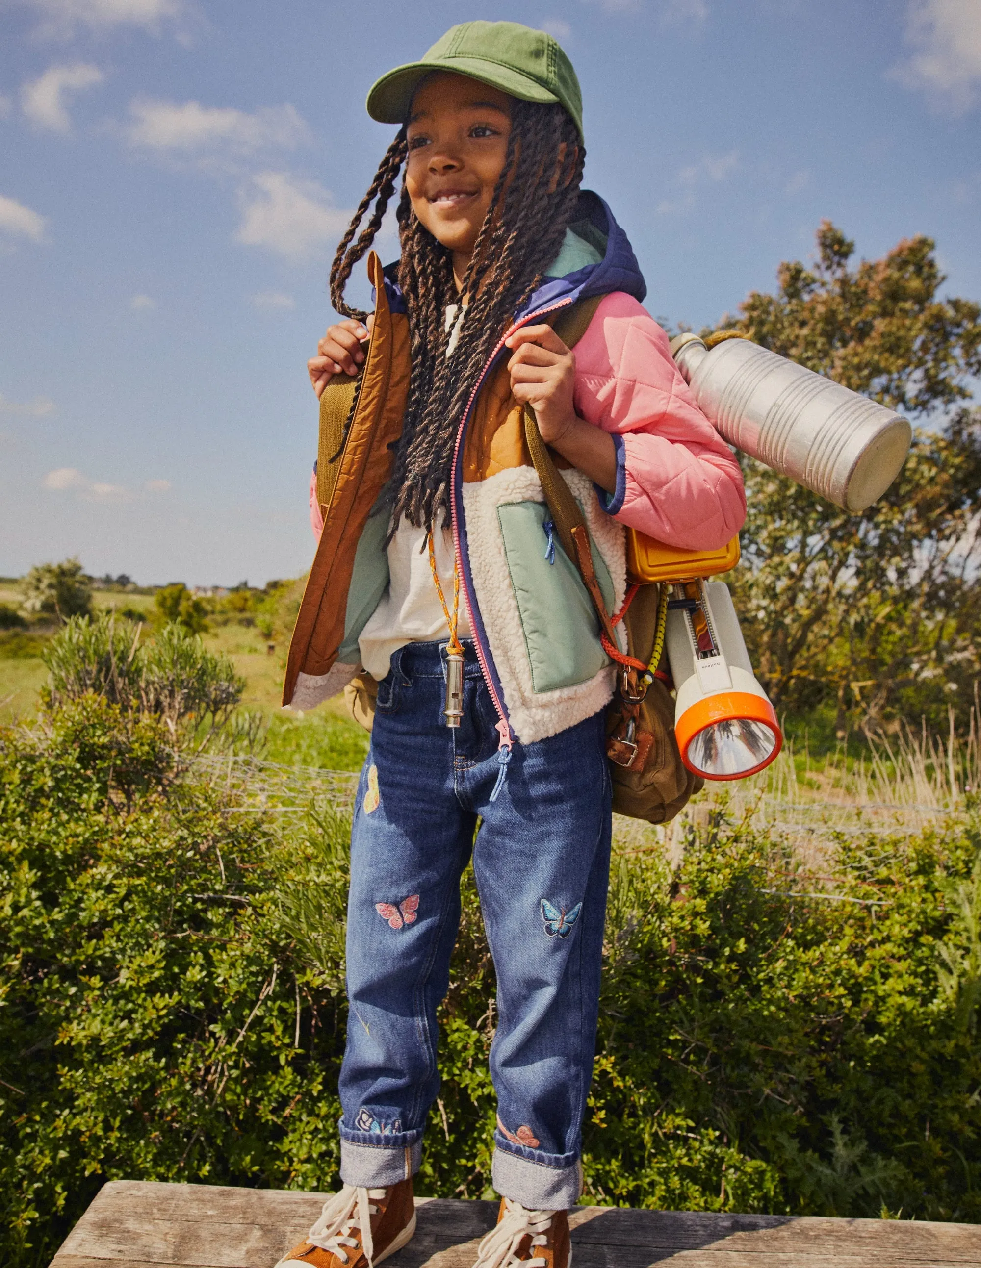
[[453,252],[457,273],[473,252],[510,131],[511,98],[466,75],[440,71],[412,98],[406,188],[421,223]]

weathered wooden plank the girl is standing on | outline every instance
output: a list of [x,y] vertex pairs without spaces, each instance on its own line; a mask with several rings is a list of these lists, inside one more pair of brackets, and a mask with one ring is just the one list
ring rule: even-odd
[[[329,1194],[114,1181],[52,1268],[273,1268]],[[496,1202],[418,1200],[392,1268],[472,1268]],[[576,1268],[981,1268],[981,1227],[896,1220],[577,1207]]]

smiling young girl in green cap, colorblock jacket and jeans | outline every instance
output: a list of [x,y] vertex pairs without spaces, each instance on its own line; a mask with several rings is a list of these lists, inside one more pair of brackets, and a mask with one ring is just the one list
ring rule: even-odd
[[[284,692],[306,709],[355,675],[377,683],[352,833],[344,1188],[283,1263],[362,1268],[412,1235],[412,1175],[439,1088],[437,1009],[472,852],[497,974],[503,1194],[476,1263],[567,1268],[599,1000],[614,671],[552,533],[523,407],[583,507],[609,611],[626,591],[624,525],[720,547],[742,522],[742,484],[641,307],[626,235],[580,191],[579,84],[550,36],[454,27],[383,76],[368,112],[400,128],[331,273],[348,320],[308,363],[319,396],[334,375],[360,379],[340,456],[320,459],[322,501],[315,476],[320,544]],[[404,167],[401,255],[385,270],[371,256],[365,320],[344,288]],[[589,297],[602,299],[574,354],[552,322]]]

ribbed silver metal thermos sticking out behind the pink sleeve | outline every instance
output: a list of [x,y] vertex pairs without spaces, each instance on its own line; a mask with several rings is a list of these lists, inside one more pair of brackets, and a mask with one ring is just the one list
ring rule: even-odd
[[671,353],[731,445],[835,506],[864,511],[899,476],[912,429],[895,411],[745,339],[685,333]]

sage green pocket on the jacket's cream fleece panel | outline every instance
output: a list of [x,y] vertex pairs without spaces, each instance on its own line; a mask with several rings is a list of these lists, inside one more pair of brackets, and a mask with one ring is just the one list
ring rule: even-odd
[[[555,539],[555,563],[546,558],[548,536],[543,502],[505,502],[497,522],[508,572],[524,630],[524,644],[536,692],[588,682],[609,664],[599,642],[599,620],[583,578]],[[593,567],[607,610],[613,609],[613,582],[593,544]]]

